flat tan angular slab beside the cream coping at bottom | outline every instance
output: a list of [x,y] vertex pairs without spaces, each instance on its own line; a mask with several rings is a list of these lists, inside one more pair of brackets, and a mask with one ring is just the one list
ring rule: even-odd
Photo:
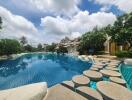
[[87,100],[87,98],[58,84],[48,89],[48,93],[43,100]]

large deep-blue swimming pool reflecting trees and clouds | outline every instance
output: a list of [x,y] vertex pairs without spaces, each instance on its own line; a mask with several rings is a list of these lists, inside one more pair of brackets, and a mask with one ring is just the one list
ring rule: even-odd
[[15,60],[0,61],[0,89],[47,82],[48,87],[82,74],[91,63],[70,55],[26,54]]

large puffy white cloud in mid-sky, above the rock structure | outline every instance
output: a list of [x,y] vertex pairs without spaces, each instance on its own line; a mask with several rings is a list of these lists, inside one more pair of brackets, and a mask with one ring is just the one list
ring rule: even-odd
[[94,27],[105,27],[113,24],[116,16],[113,13],[97,12],[89,14],[88,11],[80,11],[71,19],[47,16],[41,18],[41,26],[47,35],[58,37],[58,41],[65,36],[78,37]]

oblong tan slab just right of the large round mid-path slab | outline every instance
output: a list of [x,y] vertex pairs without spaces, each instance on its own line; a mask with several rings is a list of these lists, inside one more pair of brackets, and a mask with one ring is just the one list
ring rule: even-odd
[[103,69],[100,72],[106,77],[120,77],[121,76],[119,72],[107,70],[107,69]]

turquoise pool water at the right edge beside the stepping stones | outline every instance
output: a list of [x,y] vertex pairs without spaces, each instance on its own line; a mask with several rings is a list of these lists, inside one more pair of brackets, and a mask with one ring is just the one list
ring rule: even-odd
[[120,71],[122,73],[123,78],[127,82],[127,86],[130,90],[132,90],[132,65],[122,64],[120,66]]

